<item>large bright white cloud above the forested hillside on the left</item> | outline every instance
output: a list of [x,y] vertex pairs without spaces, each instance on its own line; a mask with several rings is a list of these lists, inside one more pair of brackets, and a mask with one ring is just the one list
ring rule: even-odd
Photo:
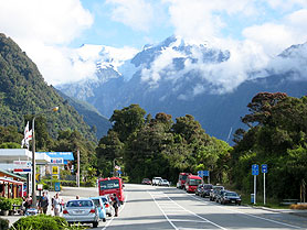
[[65,46],[92,23],[78,0],[0,1],[0,31],[27,52],[49,84],[82,78]]

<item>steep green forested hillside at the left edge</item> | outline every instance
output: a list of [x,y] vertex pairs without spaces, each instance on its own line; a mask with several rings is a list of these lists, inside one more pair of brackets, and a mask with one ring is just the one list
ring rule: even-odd
[[24,129],[24,117],[44,113],[52,107],[56,113],[46,113],[47,131],[52,136],[59,130],[76,130],[88,140],[95,141],[91,128],[76,110],[47,86],[35,64],[4,34],[0,34],[0,124]]

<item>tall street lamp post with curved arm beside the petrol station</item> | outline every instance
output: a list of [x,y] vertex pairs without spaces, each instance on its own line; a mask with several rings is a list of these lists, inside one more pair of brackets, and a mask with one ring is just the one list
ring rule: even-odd
[[[56,112],[59,107],[54,107],[51,111]],[[36,207],[36,185],[35,185],[35,174],[36,174],[36,165],[35,165],[35,116],[42,114],[44,112],[40,112],[33,116],[32,120],[32,206]]]

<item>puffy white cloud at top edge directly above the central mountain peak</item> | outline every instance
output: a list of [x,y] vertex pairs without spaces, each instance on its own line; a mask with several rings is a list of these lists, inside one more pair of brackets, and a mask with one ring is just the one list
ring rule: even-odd
[[169,4],[170,20],[176,28],[176,35],[192,41],[214,41],[226,26],[223,14],[255,13],[250,0],[163,0]]

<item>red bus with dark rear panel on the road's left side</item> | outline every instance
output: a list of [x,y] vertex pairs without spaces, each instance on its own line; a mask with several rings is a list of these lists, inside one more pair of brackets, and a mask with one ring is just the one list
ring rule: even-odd
[[123,204],[125,200],[123,179],[119,177],[99,178],[98,194],[99,196],[116,194]]

